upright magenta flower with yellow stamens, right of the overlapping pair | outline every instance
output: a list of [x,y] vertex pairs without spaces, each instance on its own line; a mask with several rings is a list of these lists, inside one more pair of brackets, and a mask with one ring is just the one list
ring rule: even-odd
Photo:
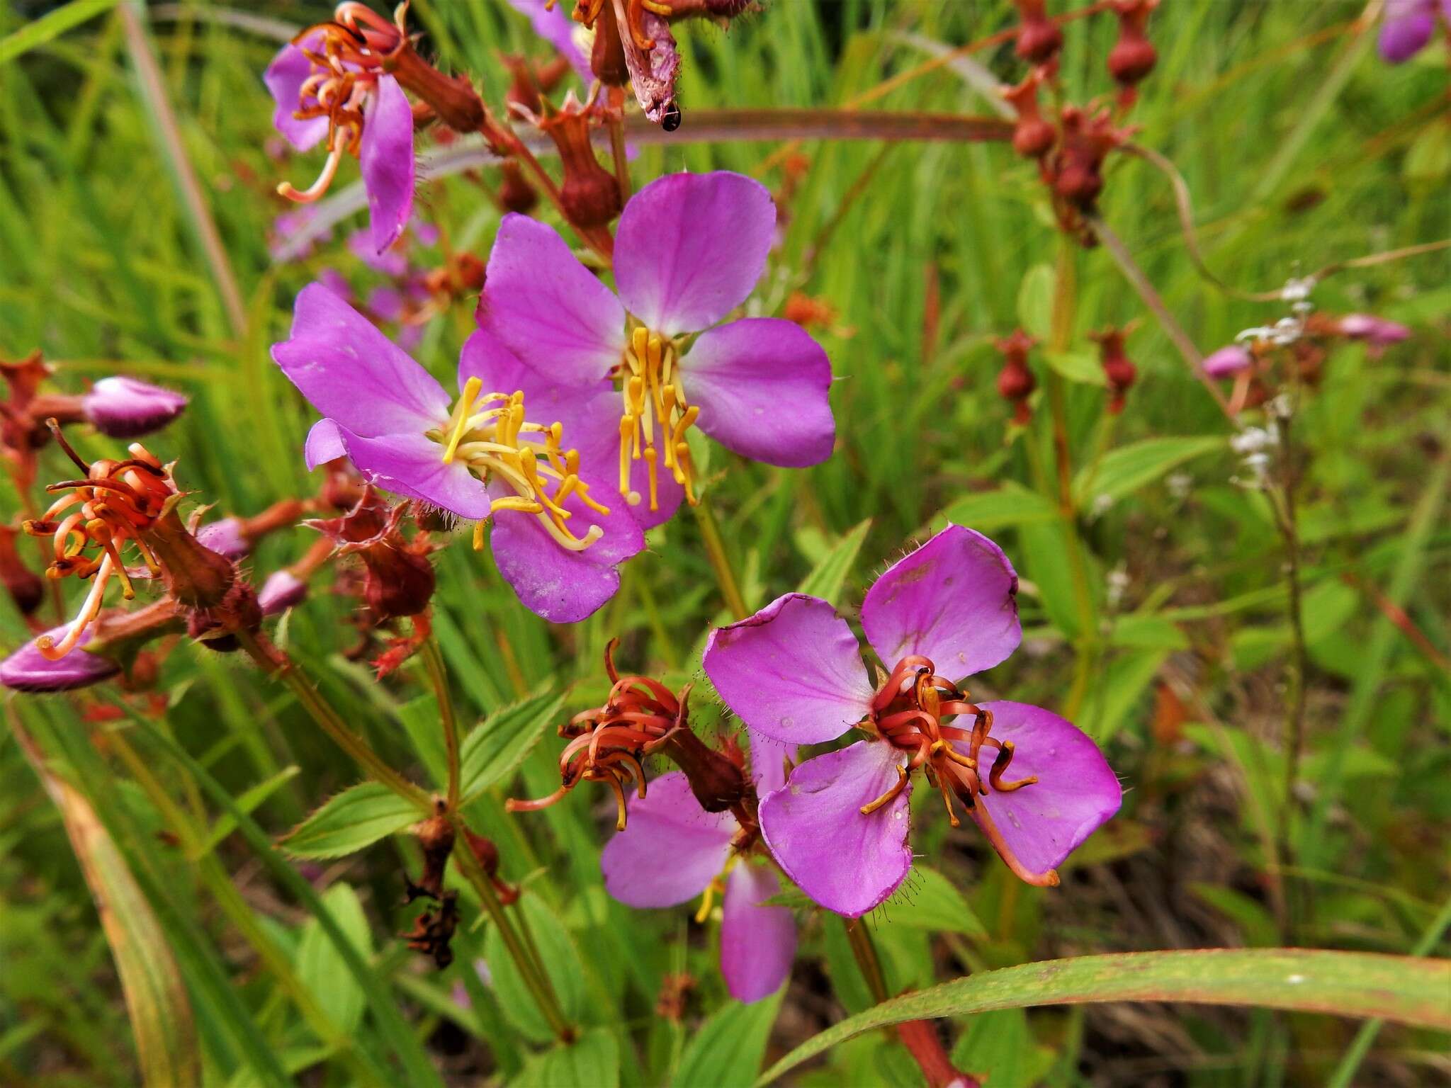
[[553,228],[521,215],[499,226],[479,326],[580,395],[617,390],[620,493],[647,528],[682,496],[695,500],[691,426],[768,464],[804,467],[831,454],[821,345],[775,318],[717,325],[760,279],[775,223],[770,193],[749,177],[651,181],[620,216],[618,297]]

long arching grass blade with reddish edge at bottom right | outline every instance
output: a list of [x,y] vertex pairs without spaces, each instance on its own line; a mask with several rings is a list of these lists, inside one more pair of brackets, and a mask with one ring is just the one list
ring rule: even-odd
[[884,1001],[808,1039],[756,1082],[904,1020],[1097,1001],[1187,1001],[1383,1017],[1451,1030],[1451,963],[1365,952],[1206,949],[1078,956],[988,970]]

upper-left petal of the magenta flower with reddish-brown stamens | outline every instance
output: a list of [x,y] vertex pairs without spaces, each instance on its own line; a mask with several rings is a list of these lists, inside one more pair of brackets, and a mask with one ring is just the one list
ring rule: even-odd
[[711,631],[702,663],[736,717],[788,744],[840,737],[872,701],[852,628],[805,593],[786,593]]

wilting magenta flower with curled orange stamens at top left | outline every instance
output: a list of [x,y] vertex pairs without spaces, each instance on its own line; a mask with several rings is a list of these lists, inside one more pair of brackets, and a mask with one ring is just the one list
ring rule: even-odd
[[403,30],[361,4],[347,3],[338,10],[354,29],[319,25],[284,45],[263,74],[277,104],[277,132],[297,151],[324,139],[328,145],[328,158],[312,186],[297,190],[284,181],[277,191],[299,203],[316,200],[332,184],[342,152],[357,155],[373,245],[383,252],[398,241],[414,207],[414,110],[398,80],[383,70],[383,54]]

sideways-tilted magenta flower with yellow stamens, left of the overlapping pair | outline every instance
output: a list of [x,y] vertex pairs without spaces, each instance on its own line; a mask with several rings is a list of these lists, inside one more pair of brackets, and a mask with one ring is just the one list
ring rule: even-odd
[[[476,547],[492,515],[499,573],[546,619],[593,612],[620,588],[617,564],[644,547],[622,503],[593,498],[609,489],[592,483],[591,457],[615,441],[595,397],[548,384],[486,334],[464,344],[451,403],[427,370],[313,283],[271,355],[325,416],[308,434],[309,469],[345,456],[383,490],[477,519]],[[579,445],[566,447],[566,435]]]

